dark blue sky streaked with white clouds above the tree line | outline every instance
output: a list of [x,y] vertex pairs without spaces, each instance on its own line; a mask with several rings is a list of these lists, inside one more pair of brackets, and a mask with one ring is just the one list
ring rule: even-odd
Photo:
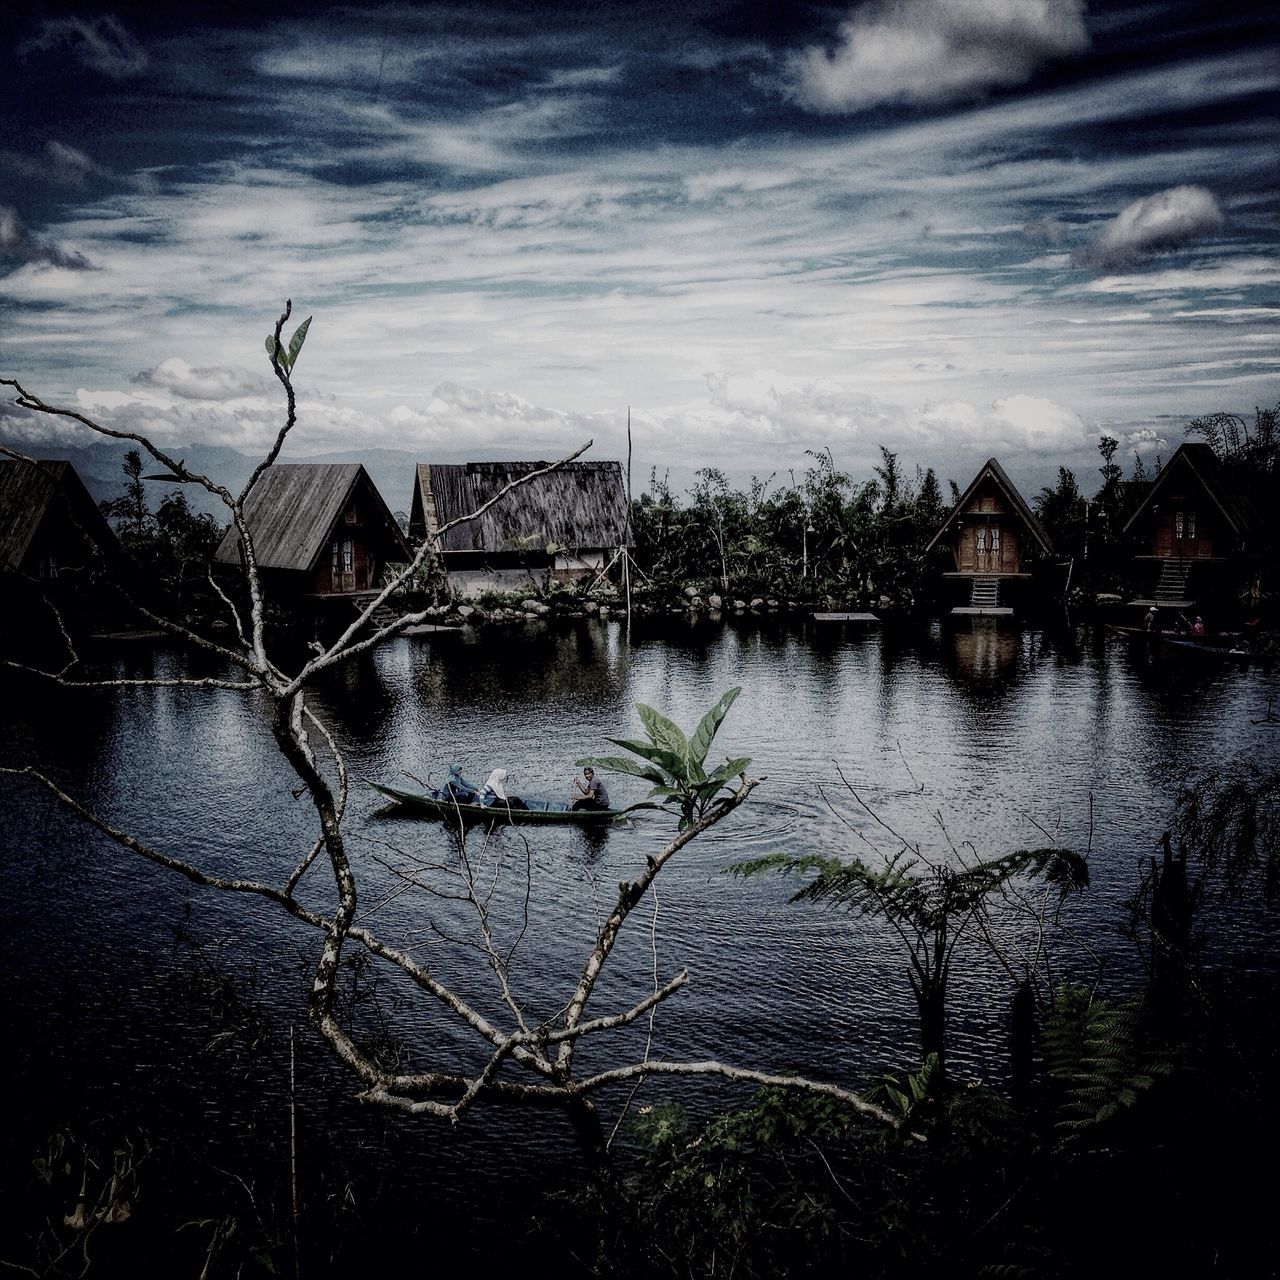
[[294,454],[1167,456],[1280,398],[1266,9],[19,4],[0,370],[252,451],[288,297]]

